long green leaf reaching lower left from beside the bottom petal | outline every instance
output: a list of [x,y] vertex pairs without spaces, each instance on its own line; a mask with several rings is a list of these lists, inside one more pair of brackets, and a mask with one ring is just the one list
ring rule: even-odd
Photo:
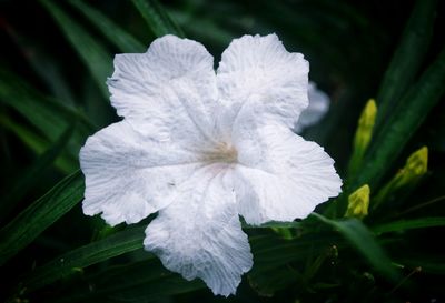
[[[83,193],[83,191],[82,191]],[[72,274],[78,269],[142,248],[146,226],[132,226],[106,239],[92,242],[36,269],[24,281],[28,291],[48,285]]]

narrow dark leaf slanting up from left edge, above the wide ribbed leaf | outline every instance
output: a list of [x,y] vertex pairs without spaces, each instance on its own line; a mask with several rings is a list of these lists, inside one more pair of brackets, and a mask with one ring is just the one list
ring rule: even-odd
[[3,198],[0,204],[0,218],[4,218],[10,210],[32,189],[36,184],[34,180],[40,179],[47,169],[55,162],[56,158],[62,152],[75,130],[73,125],[60,135],[60,139],[48,149],[34,163],[23,173],[18,182],[11,186],[8,194]]

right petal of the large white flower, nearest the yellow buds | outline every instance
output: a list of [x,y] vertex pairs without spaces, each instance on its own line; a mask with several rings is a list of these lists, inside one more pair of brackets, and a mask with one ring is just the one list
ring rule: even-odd
[[340,192],[334,160],[290,130],[265,127],[237,133],[239,213],[250,224],[306,218]]

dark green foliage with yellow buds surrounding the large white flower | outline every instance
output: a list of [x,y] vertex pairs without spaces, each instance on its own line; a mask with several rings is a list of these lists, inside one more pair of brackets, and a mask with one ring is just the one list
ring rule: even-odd
[[[0,8],[0,300],[445,300],[439,1],[7,0]],[[268,32],[305,53],[312,79],[332,95],[328,115],[303,135],[337,160],[345,186],[303,221],[245,224],[255,265],[224,300],[141,250],[152,218],[110,229],[81,214],[78,153],[118,119],[106,88],[115,53],[142,52],[174,33],[218,58],[233,38]]]

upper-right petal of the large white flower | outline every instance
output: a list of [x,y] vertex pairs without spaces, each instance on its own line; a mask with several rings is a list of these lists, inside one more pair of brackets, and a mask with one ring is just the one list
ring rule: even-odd
[[224,51],[217,82],[234,114],[246,102],[256,102],[258,119],[294,127],[308,103],[308,72],[303,54],[286,51],[276,34],[244,36]]

